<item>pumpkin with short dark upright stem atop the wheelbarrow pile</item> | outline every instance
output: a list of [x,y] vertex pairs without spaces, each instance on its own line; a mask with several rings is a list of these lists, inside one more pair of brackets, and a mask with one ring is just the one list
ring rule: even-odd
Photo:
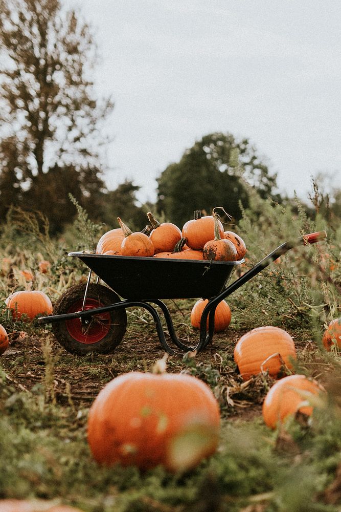
[[[187,221],[182,229],[183,237],[187,238],[187,245],[191,249],[202,250],[209,240],[214,239],[214,218],[212,215],[201,216],[200,210],[194,211],[194,219]],[[218,222],[220,237],[224,236],[224,228]]]

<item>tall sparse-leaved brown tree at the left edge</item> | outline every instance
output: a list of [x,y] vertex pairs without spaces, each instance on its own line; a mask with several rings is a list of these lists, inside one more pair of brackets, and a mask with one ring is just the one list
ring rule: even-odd
[[60,0],[0,0],[0,57],[0,214],[11,203],[41,209],[57,228],[69,192],[99,211],[102,121],[113,104],[89,78],[90,28]]

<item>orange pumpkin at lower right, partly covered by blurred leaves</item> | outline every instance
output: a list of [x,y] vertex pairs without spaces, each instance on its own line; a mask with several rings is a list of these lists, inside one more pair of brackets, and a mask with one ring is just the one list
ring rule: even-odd
[[310,392],[318,395],[323,391],[322,386],[315,380],[309,380],[305,375],[288,375],[275,382],[268,391],[262,407],[263,419],[270,429],[276,429],[279,422],[283,422],[298,410],[308,416],[311,415],[312,406],[299,407],[307,399],[304,393]]

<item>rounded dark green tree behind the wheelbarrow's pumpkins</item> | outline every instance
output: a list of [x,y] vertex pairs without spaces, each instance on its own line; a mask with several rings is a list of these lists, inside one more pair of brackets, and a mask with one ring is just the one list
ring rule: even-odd
[[269,175],[247,139],[238,142],[229,133],[213,133],[186,150],[178,163],[170,164],[157,184],[157,211],[182,227],[194,210],[211,214],[215,206],[240,219],[239,201],[248,205],[248,186],[263,198],[275,198],[276,175]]

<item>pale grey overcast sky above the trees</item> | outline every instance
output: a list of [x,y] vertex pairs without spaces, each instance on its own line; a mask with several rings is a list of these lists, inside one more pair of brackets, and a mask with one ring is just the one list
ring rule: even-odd
[[339,0],[75,0],[115,109],[107,185],[142,201],[185,149],[215,131],[247,137],[305,199],[311,176],[341,187]]

